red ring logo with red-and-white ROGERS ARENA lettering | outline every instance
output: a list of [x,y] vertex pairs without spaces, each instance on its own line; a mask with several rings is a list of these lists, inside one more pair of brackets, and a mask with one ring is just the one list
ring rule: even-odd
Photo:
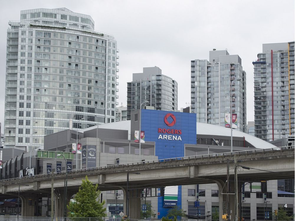
[[[170,118],[172,120],[170,120]],[[168,113],[164,117],[164,122],[169,127],[174,126],[174,124],[176,123],[176,117],[172,113]],[[178,135],[181,135],[181,130],[158,128],[158,133],[176,134],[176,135],[159,134],[158,139],[182,141],[181,136],[178,136]]]

